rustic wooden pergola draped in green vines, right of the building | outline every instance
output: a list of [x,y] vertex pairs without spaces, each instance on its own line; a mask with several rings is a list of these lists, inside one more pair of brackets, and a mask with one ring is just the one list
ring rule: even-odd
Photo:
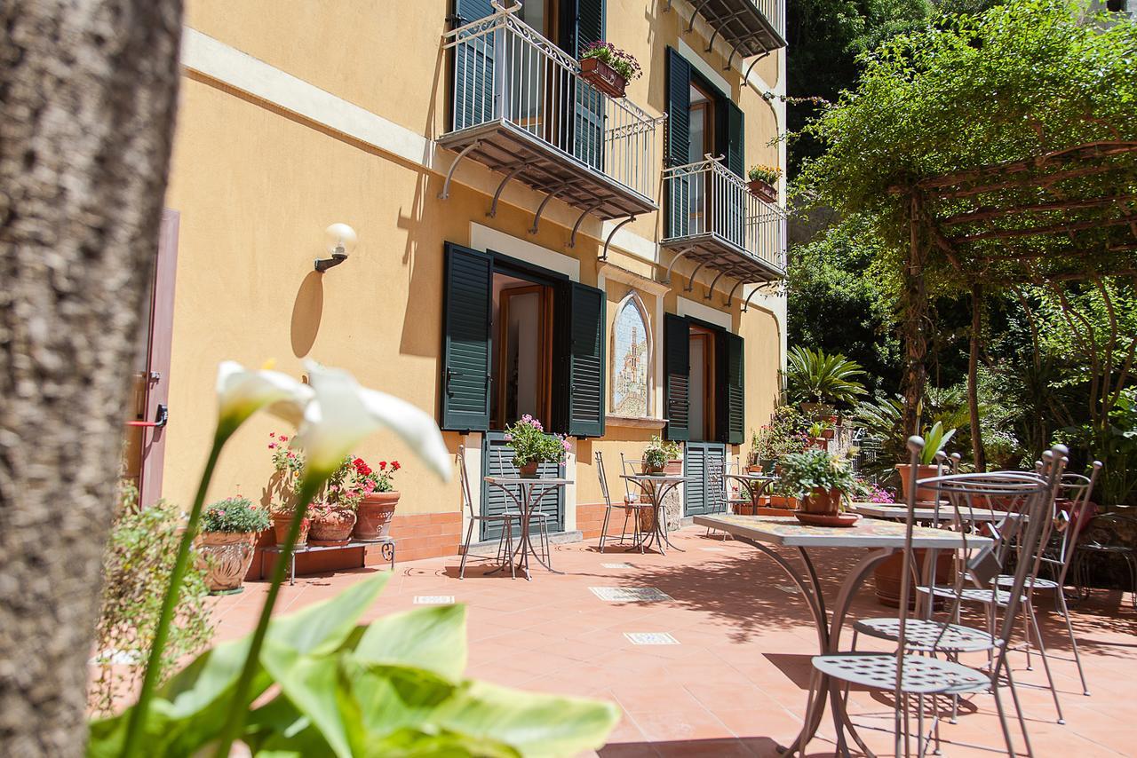
[[[910,244],[902,280],[904,425],[918,433],[927,382],[929,275],[972,303],[968,397],[976,465],[985,466],[976,389],[984,291],[1137,276],[1137,141],[1105,140],[893,185]],[[1132,340],[1126,357],[1134,359]]]

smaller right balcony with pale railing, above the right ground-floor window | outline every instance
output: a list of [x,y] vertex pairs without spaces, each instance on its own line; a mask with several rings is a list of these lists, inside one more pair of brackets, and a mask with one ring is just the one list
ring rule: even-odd
[[[666,235],[659,245],[739,283],[777,282],[786,276],[786,214],[760,200],[721,158],[663,172]],[[713,283],[712,283],[713,286]]]

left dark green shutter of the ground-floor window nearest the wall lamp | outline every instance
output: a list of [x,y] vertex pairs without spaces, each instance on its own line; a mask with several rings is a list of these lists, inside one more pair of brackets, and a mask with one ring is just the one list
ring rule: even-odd
[[490,427],[490,306],[493,258],[446,245],[442,428]]

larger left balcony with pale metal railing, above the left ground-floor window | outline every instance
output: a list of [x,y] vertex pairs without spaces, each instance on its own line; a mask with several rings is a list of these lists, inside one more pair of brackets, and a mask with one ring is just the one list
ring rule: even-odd
[[453,116],[439,145],[505,175],[491,216],[511,180],[546,192],[534,231],[553,198],[579,208],[580,219],[657,210],[663,118],[596,90],[580,77],[576,60],[515,18],[515,10],[498,9],[446,34]]

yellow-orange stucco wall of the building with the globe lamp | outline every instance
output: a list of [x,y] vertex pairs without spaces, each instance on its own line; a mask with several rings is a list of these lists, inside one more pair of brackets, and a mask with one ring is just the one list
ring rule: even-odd
[[[608,36],[645,63],[646,74],[630,97],[653,111],[663,108],[664,44],[678,39],[680,18],[658,14],[661,3],[609,0]],[[284,6],[284,8],[282,8]],[[273,66],[321,86],[421,134],[442,127],[446,95],[435,56],[448,2],[422,0],[415,13],[390,13],[390,3],[192,0],[188,24]],[[662,42],[661,42],[662,40]],[[688,38],[690,40],[690,38]],[[414,51],[412,55],[410,51]],[[712,56],[714,57],[714,56]],[[721,69],[721,61],[716,63]],[[381,72],[382,75],[377,75]],[[737,74],[732,84],[736,86]],[[728,75],[729,78],[729,75]],[[397,106],[392,105],[397,103]],[[747,160],[775,163],[766,148],[775,134],[772,111],[749,88]],[[662,131],[658,135],[662,156]],[[769,158],[763,150],[770,150]],[[164,495],[188,503],[213,433],[217,364],[275,360],[299,376],[302,358],[343,367],[367,386],[391,392],[437,415],[441,347],[443,243],[468,244],[471,223],[545,247],[581,261],[580,281],[597,284],[599,243],[542,220],[528,233],[534,208],[503,203],[485,217],[489,197],[455,183],[438,200],[442,176],[393,158],[317,124],[198,74],[183,78],[171,185],[166,206],[180,211],[171,423],[167,428]],[[350,224],[359,244],[342,266],[321,276],[323,230]],[[634,232],[658,238],[657,214],[638,219]],[[654,267],[613,249],[611,263],[641,276]],[[675,288],[686,284],[681,268]],[[702,294],[702,284],[699,293]],[[609,322],[626,285],[611,281]],[[655,297],[641,293],[655,316]],[[613,300],[613,298],[615,300]],[[716,294],[713,307],[723,309]],[[664,297],[674,311],[674,292]],[[773,316],[752,308],[730,311],[746,340],[746,424],[761,424],[773,407],[780,338]],[[654,324],[653,324],[654,326]],[[658,348],[659,345],[657,345]],[[611,380],[611,372],[609,372]],[[659,377],[656,376],[658,382]],[[611,398],[611,395],[609,395]],[[656,407],[655,414],[662,409]],[[271,472],[269,431],[256,417],[230,442],[210,498],[233,492],[259,499]],[[576,449],[576,502],[600,500],[592,453],[603,450],[609,480],[620,451],[637,458],[653,430],[612,426],[603,440]],[[456,450],[460,438],[447,433]],[[745,451],[745,449],[742,449]],[[738,452],[739,449],[736,449]],[[357,450],[370,460],[400,459],[400,513],[450,511],[459,507],[456,482],[442,484],[390,434]],[[622,485],[616,482],[616,492]]]

